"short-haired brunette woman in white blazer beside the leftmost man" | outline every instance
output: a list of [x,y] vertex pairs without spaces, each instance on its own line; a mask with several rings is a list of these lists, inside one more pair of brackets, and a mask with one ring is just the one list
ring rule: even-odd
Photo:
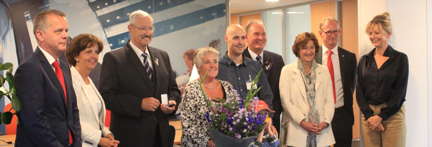
[[66,50],[66,58],[72,67],[73,89],[79,109],[83,147],[117,147],[120,143],[105,124],[105,103],[89,73],[95,68],[102,41],[91,34],[80,34],[73,38]]

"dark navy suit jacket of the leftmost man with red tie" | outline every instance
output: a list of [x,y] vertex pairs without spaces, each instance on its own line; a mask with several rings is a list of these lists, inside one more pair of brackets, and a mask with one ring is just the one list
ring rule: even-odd
[[60,61],[66,86],[67,103],[51,64],[36,48],[16,70],[15,86],[21,101],[15,147],[81,147],[81,125],[69,66]]

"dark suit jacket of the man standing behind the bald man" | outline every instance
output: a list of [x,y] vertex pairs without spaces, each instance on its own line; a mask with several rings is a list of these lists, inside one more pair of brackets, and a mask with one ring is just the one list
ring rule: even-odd
[[[275,115],[279,116],[280,113],[282,113],[282,104],[280,102],[279,94],[279,79],[280,72],[282,71],[282,67],[285,66],[285,63],[283,62],[281,55],[266,50],[263,52],[263,71],[266,73],[267,80],[270,84],[270,89],[273,92],[273,110],[276,111]],[[243,53],[245,54],[245,57],[252,58],[251,54],[249,54],[248,47]]]

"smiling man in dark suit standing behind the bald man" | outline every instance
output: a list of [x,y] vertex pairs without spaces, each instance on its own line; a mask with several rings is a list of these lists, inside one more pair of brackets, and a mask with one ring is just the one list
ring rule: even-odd
[[264,68],[264,73],[266,73],[270,89],[273,92],[273,126],[280,133],[280,114],[283,109],[280,103],[279,78],[285,63],[281,55],[264,50],[264,46],[267,43],[267,34],[263,21],[248,21],[245,31],[248,47],[246,47],[243,53],[245,57],[257,61]]

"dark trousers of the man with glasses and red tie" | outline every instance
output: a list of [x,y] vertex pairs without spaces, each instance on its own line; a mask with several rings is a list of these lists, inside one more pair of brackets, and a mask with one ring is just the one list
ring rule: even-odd
[[336,140],[334,147],[351,147],[353,141],[352,115],[343,106],[334,110],[333,120],[331,121],[334,139]]

